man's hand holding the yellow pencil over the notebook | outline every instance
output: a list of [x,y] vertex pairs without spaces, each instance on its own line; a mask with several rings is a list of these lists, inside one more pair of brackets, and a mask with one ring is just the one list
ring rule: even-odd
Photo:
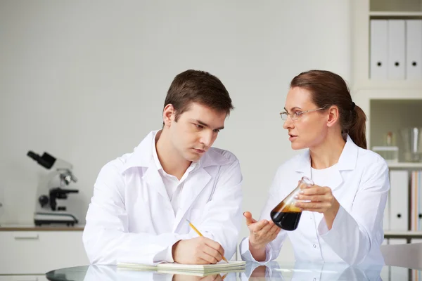
[[207,237],[180,240],[173,245],[173,259],[177,263],[210,264],[218,263],[224,256],[222,245]]

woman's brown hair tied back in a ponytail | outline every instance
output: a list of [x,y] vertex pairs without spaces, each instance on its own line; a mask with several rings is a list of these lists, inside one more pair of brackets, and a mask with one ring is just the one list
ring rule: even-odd
[[292,79],[290,88],[300,87],[312,94],[317,107],[338,107],[343,138],[348,133],[352,141],[366,149],[366,115],[355,105],[345,80],[338,74],[326,70],[309,70]]

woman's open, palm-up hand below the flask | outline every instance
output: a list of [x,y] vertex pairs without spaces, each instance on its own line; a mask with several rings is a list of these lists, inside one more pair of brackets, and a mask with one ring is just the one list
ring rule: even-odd
[[243,216],[246,218],[246,225],[249,229],[250,246],[255,249],[265,248],[280,233],[281,228],[276,226],[272,221],[255,221],[249,211],[245,211]]

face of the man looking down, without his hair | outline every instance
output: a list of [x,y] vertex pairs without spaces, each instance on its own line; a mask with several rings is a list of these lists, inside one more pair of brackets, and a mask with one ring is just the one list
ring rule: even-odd
[[170,122],[170,141],[184,159],[197,162],[212,146],[220,130],[224,128],[226,112],[217,112],[199,103],[191,103],[188,110],[174,114]]

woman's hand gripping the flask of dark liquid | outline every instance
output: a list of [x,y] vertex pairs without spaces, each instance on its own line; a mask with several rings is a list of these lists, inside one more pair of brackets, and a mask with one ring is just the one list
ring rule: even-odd
[[317,211],[324,214],[328,230],[333,226],[333,221],[337,215],[340,203],[333,196],[331,188],[326,186],[311,185],[300,191],[297,200],[309,202],[296,202],[295,206],[303,211]]

